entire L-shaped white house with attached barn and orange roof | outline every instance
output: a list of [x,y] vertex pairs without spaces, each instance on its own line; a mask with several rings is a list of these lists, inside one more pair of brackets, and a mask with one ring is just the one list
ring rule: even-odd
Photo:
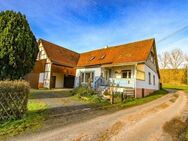
[[70,82],[78,87],[91,82],[95,90],[112,85],[117,92],[134,90],[135,97],[144,97],[160,87],[154,39],[80,54],[40,39],[39,50],[37,62],[45,64],[39,73],[40,87],[64,88]]

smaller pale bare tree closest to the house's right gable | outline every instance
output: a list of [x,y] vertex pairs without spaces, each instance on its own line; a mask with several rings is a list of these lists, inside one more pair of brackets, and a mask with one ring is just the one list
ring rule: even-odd
[[166,69],[169,67],[170,54],[166,51],[158,55],[159,66],[161,69]]

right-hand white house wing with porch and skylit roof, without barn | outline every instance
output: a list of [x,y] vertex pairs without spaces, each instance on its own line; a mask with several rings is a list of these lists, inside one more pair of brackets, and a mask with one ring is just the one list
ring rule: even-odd
[[160,75],[154,39],[80,54],[75,87],[91,79],[94,89],[113,85],[117,92],[133,89],[135,97],[159,90]]

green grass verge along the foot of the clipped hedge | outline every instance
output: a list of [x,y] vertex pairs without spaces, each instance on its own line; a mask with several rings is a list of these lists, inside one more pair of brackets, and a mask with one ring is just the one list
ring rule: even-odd
[[45,119],[45,103],[29,102],[28,112],[22,119],[0,123],[0,140],[15,136],[24,131],[34,131],[42,126]]

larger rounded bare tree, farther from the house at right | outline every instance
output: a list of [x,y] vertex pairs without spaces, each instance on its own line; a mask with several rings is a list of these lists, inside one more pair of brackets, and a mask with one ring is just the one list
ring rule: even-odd
[[169,65],[173,69],[180,68],[184,63],[184,54],[181,49],[174,49],[170,52]]

